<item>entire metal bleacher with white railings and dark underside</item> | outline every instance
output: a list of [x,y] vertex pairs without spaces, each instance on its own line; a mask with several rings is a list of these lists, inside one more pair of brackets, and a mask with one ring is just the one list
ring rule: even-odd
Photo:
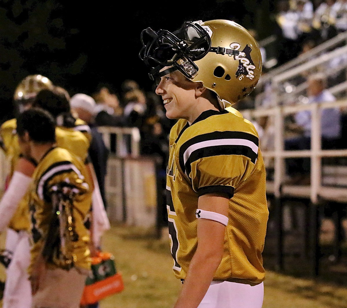
[[[255,109],[242,110],[243,116],[252,122],[267,118],[260,137],[268,172],[266,193],[270,210],[265,264],[287,273],[338,277],[344,283],[347,283],[347,230],[342,227],[347,212],[346,42],[344,32],[270,70],[257,85]],[[327,89],[337,98],[336,102],[307,104],[307,77],[315,73],[324,73]],[[321,144],[321,111],[325,108],[341,111],[341,138],[331,149],[322,149]],[[311,111],[311,149],[286,151],[284,140],[290,136],[286,121],[300,110]],[[289,181],[285,159],[303,157],[311,159],[311,183],[286,184]],[[324,242],[322,222],[327,217],[334,230],[329,241]]]

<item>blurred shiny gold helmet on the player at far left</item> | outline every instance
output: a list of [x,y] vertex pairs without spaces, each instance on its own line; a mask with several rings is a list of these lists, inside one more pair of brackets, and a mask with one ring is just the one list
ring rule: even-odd
[[30,100],[35,98],[36,94],[43,89],[52,90],[53,83],[42,75],[29,75],[18,84],[14,100],[18,102]]

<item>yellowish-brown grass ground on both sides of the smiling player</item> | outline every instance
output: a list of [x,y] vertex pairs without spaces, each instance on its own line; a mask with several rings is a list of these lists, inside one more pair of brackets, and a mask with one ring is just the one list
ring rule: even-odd
[[[102,300],[100,308],[172,308],[181,283],[171,271],[166,235],[156,240],[143,230],[113,225],[103,248],[115,256],[125,289]],[[264,284],[263,308],[347,308],[346,287],[271,271]]]

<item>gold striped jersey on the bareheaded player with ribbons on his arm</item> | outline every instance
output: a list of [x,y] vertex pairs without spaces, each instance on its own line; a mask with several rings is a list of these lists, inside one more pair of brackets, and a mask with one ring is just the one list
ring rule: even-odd
[[[75,198],[71,199],[73,205],[69,222],[71,229],[70,227],[68,229],[73,232],[73,237],[72,240],[64,238],[64,243],[60,239],[60,244],[66,249],[65,255],[72,256],[74,266],[84,269],[90,268],[89,232],[84,226],[84,219],[90,210],[92,192],[86,182],[86,177],[87,172],[82,160],[62,148],[52,148],[35,168],[33,183],[29,190],[29,215],[33,241],[32,263],[43,251],[44,242],[54,216],[62,215],[62,213],[54,210],[51,195],[59,190],[59,187],[68,187],[75,191]],[[59,225],[55,228],[59,233]],[[54,243],[51,244],[54,245]],[[64,266],[62,260],[57,256],[60,251],[54,251],[56,253],[49,264],[54,267]]]

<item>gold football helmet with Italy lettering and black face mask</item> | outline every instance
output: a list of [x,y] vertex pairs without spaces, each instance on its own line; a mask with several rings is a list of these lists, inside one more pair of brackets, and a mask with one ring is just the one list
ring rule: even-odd
[[[141,41],[140,58],[151,68],[152,80],[179,70],[230,103],[251,93],[261,75],[258,44],[230,20],[185,22],[173,33],[147,28]],[[169,68],[160,72],[163,67]]]

